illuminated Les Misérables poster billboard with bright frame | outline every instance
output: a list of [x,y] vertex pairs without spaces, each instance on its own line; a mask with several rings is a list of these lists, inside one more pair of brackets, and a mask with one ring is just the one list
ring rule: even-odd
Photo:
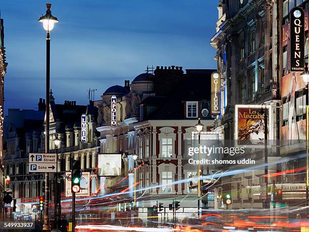
[[271,141],[273,131],[270,105],[235,106],[236,145],[254,147],[265,146],[265,114],[268,116],[268,140]]

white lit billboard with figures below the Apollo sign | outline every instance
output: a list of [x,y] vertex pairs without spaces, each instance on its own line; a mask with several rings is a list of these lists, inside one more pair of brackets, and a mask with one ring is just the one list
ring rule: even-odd
[[121,175],[121,154],[98,154],[98,175]]

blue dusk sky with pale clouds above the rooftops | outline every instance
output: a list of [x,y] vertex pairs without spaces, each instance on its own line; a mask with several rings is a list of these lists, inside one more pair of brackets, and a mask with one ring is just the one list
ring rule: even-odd
[[45,31],[38,18],[51,3],[51,87],[57,103],[87,104],[124,85],[146,66],[215,68],[217,0],[2,0],[5,108],[36,109],[45,96]]

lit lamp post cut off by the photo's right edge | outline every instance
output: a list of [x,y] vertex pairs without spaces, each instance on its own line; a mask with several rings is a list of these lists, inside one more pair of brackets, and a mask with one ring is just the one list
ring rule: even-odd
[[[303,78],[303,81],[306,83],[306,206],[309,206],[309,173],[308,173],[308,154],[309,154],[309,71],[308,71],[308,64],[305,64],[304,71],[300,74]],[[308,210],[308,208],[307,208]]]

